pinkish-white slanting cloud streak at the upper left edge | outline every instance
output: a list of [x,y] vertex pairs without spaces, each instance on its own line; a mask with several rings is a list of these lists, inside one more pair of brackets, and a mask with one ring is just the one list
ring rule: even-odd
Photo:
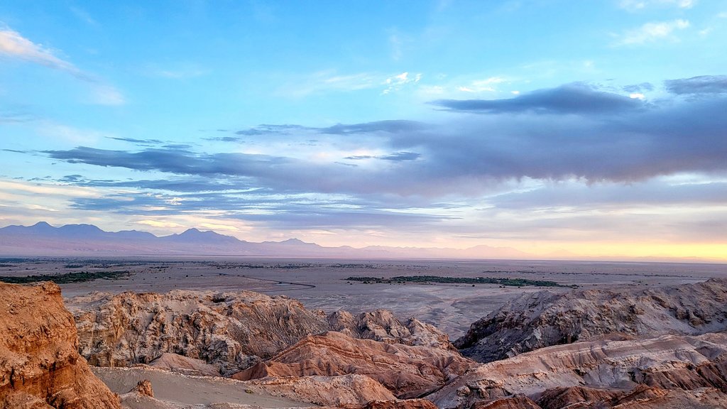
[[43,47],[42,44],[35,44],[9,28],[0,29],[0,55],[65,71],[76,78],[93,82],[91,76],[76,68],[72,63],[57,57],[51,49]]

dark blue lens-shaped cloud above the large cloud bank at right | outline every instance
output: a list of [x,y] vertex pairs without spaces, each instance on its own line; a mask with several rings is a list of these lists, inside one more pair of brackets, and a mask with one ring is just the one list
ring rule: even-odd
[[566,84],[501,100],[436,100],[449,111],[481,114],[614,114],[642,108],[644,103],[624,95],[594,90],[585,84]]

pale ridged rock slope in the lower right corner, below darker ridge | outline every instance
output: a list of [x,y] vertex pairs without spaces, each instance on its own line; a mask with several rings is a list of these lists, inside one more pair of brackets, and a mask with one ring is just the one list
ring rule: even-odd
[[[637,392],[644,396],[627,399]],[[469,408],[515,394],[547,409],[678,407],[670,402],[727,408],[727,333],[550,346],[480,365],[427,399]]]

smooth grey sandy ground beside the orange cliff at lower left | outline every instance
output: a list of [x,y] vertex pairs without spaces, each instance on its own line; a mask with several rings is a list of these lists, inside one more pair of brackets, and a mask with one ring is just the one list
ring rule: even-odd
[[[183,376],[163,370],[145,368],[91,368],[93,373],[111,389],[125,394],[142,379],[151,381],[154,397],[165,402],[184,405],[233,403],[260,408],[294,408],[315,406],[281,397],[272,397],[246,384],[228,378]],[[254,393],[245,392],[252,389]]]

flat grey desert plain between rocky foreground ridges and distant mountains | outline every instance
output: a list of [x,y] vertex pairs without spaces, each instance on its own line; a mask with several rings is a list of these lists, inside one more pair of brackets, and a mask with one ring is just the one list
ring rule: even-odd
[[[92,291],[161,293],[169,290],[251,290],[297,298],[310,309],[353,313],[390,309],[417,317],[459,337],[475,320],[502,303],[543,287],[466,284],[364,284],[351,276],[517,277],[585,288],[674,285],[727,277],[727,265],[704,263],[616,263],[585,261],[351,261],[265,258],[5,259],[0,275],[129,271],[125,279],[63,284],[71,298]],[[567,288],[548,287],[550,291]]]

